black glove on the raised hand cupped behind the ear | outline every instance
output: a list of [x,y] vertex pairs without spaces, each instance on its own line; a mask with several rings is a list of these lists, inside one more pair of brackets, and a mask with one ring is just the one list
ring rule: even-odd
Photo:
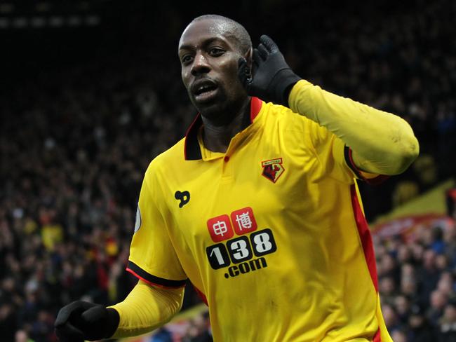
[[302,78],[290,69],[269,36],[263,34],[258,48],[253,49],[252,69],[249,70],[245,58],[239,59],[238,75],[248,95],[288,107],[291,88]]

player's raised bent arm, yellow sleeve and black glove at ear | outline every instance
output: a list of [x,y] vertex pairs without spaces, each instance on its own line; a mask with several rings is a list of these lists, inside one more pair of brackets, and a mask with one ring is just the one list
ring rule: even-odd
[[304,81],[268,36],[261,36],[250,62],[239,60],[239,78],[249,95],[290,107],[342,139],[361,171],[397,175],[418,156],[419,145],[407,122]]

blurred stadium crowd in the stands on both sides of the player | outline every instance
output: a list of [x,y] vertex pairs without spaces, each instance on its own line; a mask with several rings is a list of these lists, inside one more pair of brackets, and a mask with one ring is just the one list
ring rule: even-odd
[[[420,141],[421,156],[403,175],[382,186],[360,184],[368,221],[454,177],[456,3],[413,1],[361,13],[315,5],[305,10],[314,18],[302,20],[302,2],[288,1],[283,18],[265,7],[239,20],[253,34],[268,22],[297,74],[403,116]],[[187,23],[170,15],[176,26]],[[307,38],[296,41],[293,30]],[[196,114],[177,56],[167,53],[118,50],[37,70],[2,91],[1,341],[56,341],[53,322],[65,303],[116,303],[135,284],[125,266],[143,172]],[[456,341],[456,226],[435,226],[413,241],[375,240],[375,252],[394,341]],[[195,303],[187,285],[183,309]],[[204,329],[184,338],[209,340]]]

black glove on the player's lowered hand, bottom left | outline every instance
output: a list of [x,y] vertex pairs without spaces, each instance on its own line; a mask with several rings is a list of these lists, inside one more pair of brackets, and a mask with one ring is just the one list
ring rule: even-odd
[[95,341],[111,337],[119,326],[119,313],[87,301],[74,301],[60,309],[55,334],[62,342]]

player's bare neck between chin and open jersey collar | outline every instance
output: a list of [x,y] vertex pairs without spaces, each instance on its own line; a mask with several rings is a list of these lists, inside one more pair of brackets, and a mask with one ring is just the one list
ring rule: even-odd
[[232,117],[229,121],[215,121],[202,116],[203,143],[206,149],[213,152],[225,153],[232,137],[250,124],[250,100],[246,101],[235,114],[223,116]]

